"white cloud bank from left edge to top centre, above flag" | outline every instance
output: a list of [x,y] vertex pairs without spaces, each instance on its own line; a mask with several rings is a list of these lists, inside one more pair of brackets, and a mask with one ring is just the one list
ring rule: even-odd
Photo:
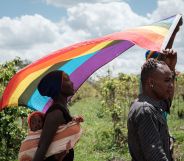
[[66,12],[58,23],[37,14],[0,19],[0,54],[34,61],[64,46],[146,22],[126,3],[78,4]]

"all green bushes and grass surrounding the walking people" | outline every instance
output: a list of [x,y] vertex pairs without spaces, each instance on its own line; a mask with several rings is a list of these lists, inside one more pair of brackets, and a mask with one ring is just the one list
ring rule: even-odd
[[[17,70],[26,62],[19,58],[0,65],[0,94]],[[129,161],[127,147],[127,114],[139,91],[139,77],[110,72],[98,81],[89,80],[72,98],[70,111],[81,114],[83,135],[75,149],[75,161]],[[184,74],[176,81],[175,98],[168,116],[171,134],[175,137],[175,158],[184,161]],[[24,107],[6,108],[0,112],[0,160],[15,161],[21,141],[27,132]]]

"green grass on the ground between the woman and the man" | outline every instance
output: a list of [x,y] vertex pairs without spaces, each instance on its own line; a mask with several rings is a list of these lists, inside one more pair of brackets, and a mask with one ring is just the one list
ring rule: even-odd
[[[87,98],[70,107],[72,115],[83,115],[85,119],[82,123],[83,135],[75,148],[75,161],[107,161],[113,157],[127,160],[126,158],[130,158],[127,148],[124,149],[123,156],[115,147],[107,148],[110,146],[111,138],[106,135],[112,130],[112,122],[108,117],[97,116],[99,108],[101,104],[98,98]],[[106,136],[102,140],[101,134]]]

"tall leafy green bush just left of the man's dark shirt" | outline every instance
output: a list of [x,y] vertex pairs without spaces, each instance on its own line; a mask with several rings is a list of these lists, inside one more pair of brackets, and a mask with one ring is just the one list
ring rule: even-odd
[[117,78],[112,78],[108,75],[101,81],[101,85],[101,115],[111,116],[113,143],[119,148],[124,147],[127,143],[127,112],[131,102],[137,97],[138,77],[120,74]]

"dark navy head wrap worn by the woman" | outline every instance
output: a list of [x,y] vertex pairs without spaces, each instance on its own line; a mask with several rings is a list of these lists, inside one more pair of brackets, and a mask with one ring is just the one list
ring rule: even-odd
[[44,76],[38,84],[38,91],[42,96],[54,98],[61,93],[63,71],[52,71]]

